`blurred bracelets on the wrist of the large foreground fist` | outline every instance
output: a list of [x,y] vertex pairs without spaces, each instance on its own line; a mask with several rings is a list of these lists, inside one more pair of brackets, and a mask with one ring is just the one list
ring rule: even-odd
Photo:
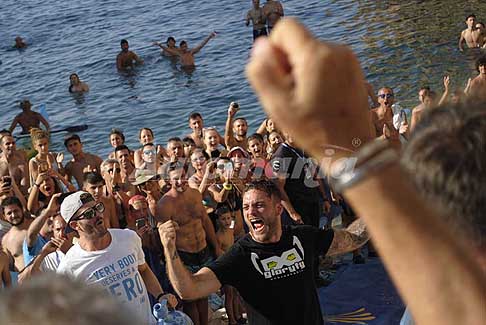
[[[383,170],[398,160],[398,154],[385,141],[375,141],[363,147],[356,158],[357,163],[354,169],[343,168],[341,174],[333,175],[331,183],[336,192],[342,193],[366,179],[370,174]],[[346,167],[346,162],[342,164],[342,167]]]

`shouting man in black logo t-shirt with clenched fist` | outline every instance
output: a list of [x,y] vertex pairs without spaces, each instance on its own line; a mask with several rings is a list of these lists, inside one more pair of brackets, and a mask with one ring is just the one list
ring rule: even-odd
[[323,324],[313,261],[318,254],[352,251],[368,240],[358,219],[348,230],[283,226],[283,207],[270,181],[250,183],[243,194],[243,213],[250,233],[196,274],[184,269],[176,249],[176,220],[159,225],[169,278],[184,299],[197,299],[234,286],[247,303],[250,324]]

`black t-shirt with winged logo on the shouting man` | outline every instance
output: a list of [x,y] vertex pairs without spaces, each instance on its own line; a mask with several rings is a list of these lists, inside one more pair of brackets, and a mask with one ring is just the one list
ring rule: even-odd
[[313,261],[333,238],[332,230],[283,226],[278,243],[261,244],[246,235],[209,268],[273,324],[320,325]]

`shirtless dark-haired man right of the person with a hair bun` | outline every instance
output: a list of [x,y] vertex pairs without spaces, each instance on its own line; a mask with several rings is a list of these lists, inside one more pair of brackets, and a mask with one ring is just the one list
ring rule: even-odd
[[64,146],[73,156],[73,159],[66,164],[64,169],[61,167],[59,172],[66,175],[68,181],[71,181],[71,178],[74,177],[78,187],[81,188],[84,181],[83,169],[91,166],[92,169],[99,171],[103,160],[96,155],[83,152],[83,144],[77,134],[68,134],[64,138]]

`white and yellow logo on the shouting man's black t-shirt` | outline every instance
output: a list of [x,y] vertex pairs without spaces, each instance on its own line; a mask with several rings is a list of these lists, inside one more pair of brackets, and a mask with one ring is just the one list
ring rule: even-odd
[[305,270],[304,249],[296,236],[293,236],[292,245],[294,247],[283,252],[282,255],[271,256],[264,260],[256,253],[251,253],[251,262],[255,269],[269,280],[302,273]]

